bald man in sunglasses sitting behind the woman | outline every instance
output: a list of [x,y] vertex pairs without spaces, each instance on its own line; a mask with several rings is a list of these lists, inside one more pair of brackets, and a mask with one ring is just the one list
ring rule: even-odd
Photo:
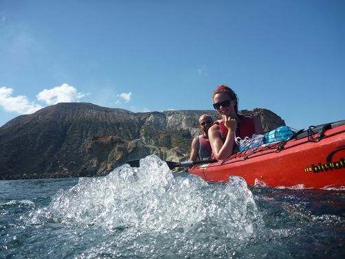
[[208,129],[213,124],[212,117],[208,114],[203,114],[199,117],[199,124],[202,135],[194,137],[190,146],[189,161],[211,159],[212,149],[208,140]]

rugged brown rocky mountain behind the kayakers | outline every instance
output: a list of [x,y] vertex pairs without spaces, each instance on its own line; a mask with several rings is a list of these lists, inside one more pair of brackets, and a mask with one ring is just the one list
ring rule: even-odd
[[[216,111],[133,113],[90,103],[48,106],[0,128],[0,179],[100,176],[150,154],[186,160],[203,113],[216,119]],[[260,117],[265,131],[285,125],[266,109],[241,113]]]

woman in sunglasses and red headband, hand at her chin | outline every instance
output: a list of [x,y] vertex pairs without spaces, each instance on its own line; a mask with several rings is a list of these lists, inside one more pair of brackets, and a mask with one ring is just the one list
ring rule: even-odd
[[232,155],[236,148],[236,137],[252,137],[263,134],[263,126],[256,117],[238,114],[238,98],[229,87],[221,85],[212,93],[213,107],[221,115],[222,120],[214,122],[208,130],[212,147],[212,157],[223,160]]

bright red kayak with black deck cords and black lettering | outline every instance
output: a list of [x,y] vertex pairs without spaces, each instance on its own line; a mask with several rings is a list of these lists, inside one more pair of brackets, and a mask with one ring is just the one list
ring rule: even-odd
[[205,181],[243,177],[270,188],[345,188],[345,121],[309,127],[289,141],[264,144],[188,169]]

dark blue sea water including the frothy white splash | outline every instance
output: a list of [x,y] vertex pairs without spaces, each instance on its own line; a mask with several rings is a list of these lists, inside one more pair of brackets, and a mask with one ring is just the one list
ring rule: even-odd
[[0,181],[0,258],[344,258],[345,191],[172,174]]

